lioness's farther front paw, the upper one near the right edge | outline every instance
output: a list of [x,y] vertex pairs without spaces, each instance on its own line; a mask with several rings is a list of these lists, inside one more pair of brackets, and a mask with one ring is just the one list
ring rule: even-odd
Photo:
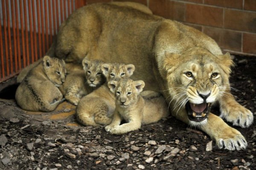
[[221,118],[239,127],[249,127],[253,123],[253,113],[239,103],[228,104],[221,108]]

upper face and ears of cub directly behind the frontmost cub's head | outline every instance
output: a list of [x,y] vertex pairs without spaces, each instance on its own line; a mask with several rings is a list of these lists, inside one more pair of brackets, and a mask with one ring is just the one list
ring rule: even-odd
[[123,63],[105,63],[102,64],[103,75],[107,78],[107,81],[118,81],[121,78],[129,78],[135,70],[133,64]]

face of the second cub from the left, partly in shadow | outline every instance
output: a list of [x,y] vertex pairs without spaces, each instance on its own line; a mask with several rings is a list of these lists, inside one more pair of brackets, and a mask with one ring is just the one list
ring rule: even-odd
[[105,77],[102,75],[103,61],[87,60],[84,58],[82,61],[83,69],[86,75],[86,83],[91,87],[96,87],[105,82]]

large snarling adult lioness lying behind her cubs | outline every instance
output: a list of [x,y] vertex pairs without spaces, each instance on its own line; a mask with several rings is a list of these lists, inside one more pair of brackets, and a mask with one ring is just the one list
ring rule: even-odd
[[[129,6],[97,3],[70,15],[53,49],[66,62],[87,57],[134,64],[132,78],[145,81],[146,90],[161,91],[172,115],[200,127],[219,148],[246,148],[243,135],[221,118],[248,127],[253,114],[230,93],[230,54],[202,32]],[[221,118],[209,112],[214,103]]]

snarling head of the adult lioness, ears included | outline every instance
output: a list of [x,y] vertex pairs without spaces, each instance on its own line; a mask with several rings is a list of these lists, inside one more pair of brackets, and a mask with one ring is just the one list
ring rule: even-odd
[[166,52],[161,76],[166,77],[173,109],[186,108],[190,123],[206,122],[212,103],[225,96],[232,65],[229,53],[215,56],[201,48],[184,54]]

